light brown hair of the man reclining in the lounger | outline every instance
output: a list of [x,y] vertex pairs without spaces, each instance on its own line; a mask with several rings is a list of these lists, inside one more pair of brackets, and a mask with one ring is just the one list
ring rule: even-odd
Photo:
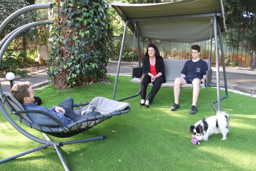
[[15,97],[21,104],[24,103],[24,97],[30,97],[29,92],[27,91],[30,87],[30,82],[21,82],[16,83],[12,86],[11,94]]

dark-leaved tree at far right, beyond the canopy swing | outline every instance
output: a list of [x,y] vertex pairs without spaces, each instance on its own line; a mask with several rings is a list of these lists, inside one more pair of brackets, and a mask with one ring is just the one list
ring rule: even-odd
[[256,65],[255,0],[223,0],[227,26],[227,44],[252,51],[252,69]]

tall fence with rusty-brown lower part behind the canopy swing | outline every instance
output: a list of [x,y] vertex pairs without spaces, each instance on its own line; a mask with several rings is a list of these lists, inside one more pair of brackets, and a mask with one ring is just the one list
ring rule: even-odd
[[[113,40],[122,40],[120,36],[114,36]],[[228,59],[228,62],[239,62],[240,65],[249,66],[252,63],[252,51],[246,50],[245,47],[238,47],[238,48],[231,48],[225,45],[225,38],[222,37],[223,42],[223,51],[225,59]],[[215,57],[215,48],[212,46],[212,54],[210,53],[210,40],[200,42],[200,43],[176,43],[176,42],[167,42],[162,40],[147,40],[147,39],[140,39],[140,48],[142,52],[142,57],[145,56],[146,50],[148,47],[148,43],[152,43],[157,46],[159,52],[163,58],[172,58],[172,59],[190,59],[190,47],[194,44],[197,44],[201,47],[201,54],[200,58],[202,59],[209,59],[211,55],[211,61],[214,63],[216,61]],[[134,41],[133,34],[127,34],[125,37],[124,47],[126,47],[127,52],[133,51],[133,44],[134,44],[134,53],[138,52],[138,43],[137,39]],[[212,42],[214,45],[214,40]],[[219,62],[222,63],[222,58],[219,51]],[[114,54],[114,53],[112,53]],[[119,56],[118,54],[114,54]],[[111,57],[113,58],[113,57]]]

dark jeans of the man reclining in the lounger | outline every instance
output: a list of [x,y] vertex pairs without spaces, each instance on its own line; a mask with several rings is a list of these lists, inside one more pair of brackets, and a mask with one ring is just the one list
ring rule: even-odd
[[59,103],[58,106],[65,109],[67,117],[72,119],[74,122],[86,117],[100,115],[99,112],[90,112],[89,114],[85,114],[85,115],[75,114],[75,112],[73,111],[73,104],[74,104],[74,100],[71,97],[67,97],[61,103]]

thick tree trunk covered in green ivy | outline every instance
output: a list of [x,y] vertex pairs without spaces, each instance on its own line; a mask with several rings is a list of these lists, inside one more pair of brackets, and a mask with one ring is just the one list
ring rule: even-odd
[[56,0],[48,75],[56,90],[102,81],[108,64],[108,6],[100,0]]

